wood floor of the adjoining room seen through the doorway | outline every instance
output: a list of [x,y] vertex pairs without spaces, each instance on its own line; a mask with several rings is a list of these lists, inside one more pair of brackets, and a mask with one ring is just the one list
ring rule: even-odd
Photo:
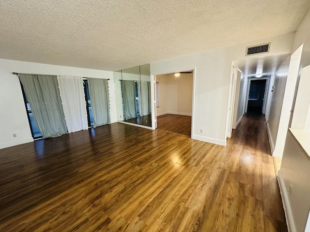
[[166,114],[157,116],[157,130],[183,134],[190,137],[192,117]]

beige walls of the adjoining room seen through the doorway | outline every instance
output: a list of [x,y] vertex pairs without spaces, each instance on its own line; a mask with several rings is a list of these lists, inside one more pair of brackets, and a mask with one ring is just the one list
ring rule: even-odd
[[[174,74],[158,75],[159,107],[157,116],[175,114],[191,116],[193,99],[193,74],[181,73],[179,77]],[[161,106],[162,105],[162,106]]]

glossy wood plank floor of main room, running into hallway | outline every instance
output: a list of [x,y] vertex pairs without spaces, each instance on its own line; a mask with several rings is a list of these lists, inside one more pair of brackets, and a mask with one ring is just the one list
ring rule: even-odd
[[262,117],[226,146],[122,123],[0,150],[0,231],[285,232]]

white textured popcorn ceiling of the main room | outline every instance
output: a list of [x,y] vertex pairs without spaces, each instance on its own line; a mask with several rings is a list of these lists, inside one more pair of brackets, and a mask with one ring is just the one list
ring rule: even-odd
[[115,71],[295,31],[309,0],[0,0],[0,58]]

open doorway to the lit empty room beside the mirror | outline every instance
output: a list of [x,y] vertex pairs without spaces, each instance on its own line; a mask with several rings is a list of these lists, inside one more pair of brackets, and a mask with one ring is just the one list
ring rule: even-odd
[[155,76],[156,129],[191,137],[193,71]]

